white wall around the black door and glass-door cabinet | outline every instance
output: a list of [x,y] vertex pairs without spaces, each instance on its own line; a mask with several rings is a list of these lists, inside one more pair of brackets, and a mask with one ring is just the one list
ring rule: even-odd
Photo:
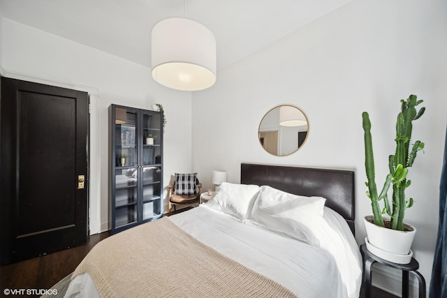
[[[108,229],[108,107],[112,103],[142,109],[154,103],[163,105],[167,119],[163,174],[167,204],[170,175],[191,171],[191,93],[156,84],[149,68],[8,19],[3,18],[0,31],[0,66],[7,75],[98,90],[97,113],[91,115],[98,123],[98,135],[91,137],[98,140],[100,230]],[[91,200],[96,204],[96,198]]]

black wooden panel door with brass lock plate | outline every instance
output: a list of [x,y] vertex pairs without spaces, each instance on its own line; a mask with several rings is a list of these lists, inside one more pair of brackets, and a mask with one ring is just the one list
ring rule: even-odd
[[88,124],[87,93],[1,78],[1,265],[86,242]]

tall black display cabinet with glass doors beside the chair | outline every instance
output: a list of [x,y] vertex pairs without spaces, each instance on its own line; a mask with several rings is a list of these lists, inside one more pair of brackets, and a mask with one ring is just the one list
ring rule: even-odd
[[112,234],[163,216],[163,115],[110,105]]

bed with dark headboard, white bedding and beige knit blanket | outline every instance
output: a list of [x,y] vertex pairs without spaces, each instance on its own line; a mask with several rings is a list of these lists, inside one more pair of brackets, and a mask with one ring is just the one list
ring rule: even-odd
[[66,297],[358,297],[351,171],[242,163],[240,184],[98,243]]

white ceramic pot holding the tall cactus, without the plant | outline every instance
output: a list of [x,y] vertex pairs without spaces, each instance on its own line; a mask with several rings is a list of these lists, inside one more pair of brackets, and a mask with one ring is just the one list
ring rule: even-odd
[[382,251],[397,255],[409,255],[411,244],[413,243],[416,228],[404,223],[404,225],[412,228],[412,231],[398,231],[388,228],[379,227],[374,223],[369,223],[368,219],[374,219],[374,216],[365,216],[365,228],[368,235],[369,244]]

